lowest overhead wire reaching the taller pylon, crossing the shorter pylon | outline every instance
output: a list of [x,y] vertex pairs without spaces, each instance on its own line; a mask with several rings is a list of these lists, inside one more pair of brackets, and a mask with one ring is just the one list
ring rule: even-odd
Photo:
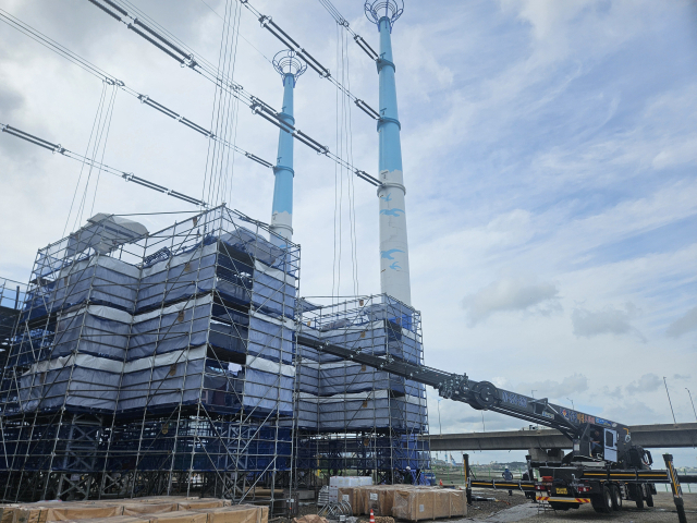
[[[144,20],[147,20],[154,26],[157,26],[157,27],[160,27],[160,26],[156,22],[151,21],[150,19],[146,19],[147,15],[142,14],[142,12],[137,10],[137,8],[133,7],[132,2],[129,2],[127,0],[113,0],[113,1],[112,0],[88,0],[88,1],[99,7],[100,10],[107,11],[111,17],[123,23],[124,25],[126,25],[129,29],[134,31],[134,33],[144,37],[146,40],[148,40],[150,44],[155,45],[159,49],[162,50],[164,46],[170,46],[169,49],[167,50],[167,54],[174,58],[180,63],[181,66],[188,68],[192,71],[200,74],[203,77],[207,78],[208,81],[213,82],[215,84],[219,84],[223,89],[227,89],[232,96],[239,98],[241,101],[247,105],[252,109],[253,113],[264,118],[265,120],[272,123],[273,125],[289,132],[295,139],[308,146],[316,153],[327,156],[328,158],[342,165],[346,169],[351,169],[352,172],[358,178],[360,178],[362,180],[370,183],[371,185],[376,185],[376,186],[380,185],[380,181],[375,177],[368,174],[364,170],[355,168],[353,165],[350,165],[344,158],[341,158],[340,156],[337,156],[335,154],[331,153],[331,150],[329,150],[329,147],[320,144],[319,142],[317,142],[316,139],[314,139],[313,137],[310,137],[309,135],[301,131],[299,129],[296,129],[294,125],[285,123],[279,117],[279,113],[271,106],[262,101],[260,98],[246,92],[244,87],[239,83],[222,76],[220,71],[216,66],[211,65],[210,62],[208,62],[205,58],[195,53],[187,46],[185,46],[183,42],[176,39],[173,35],[171,35],[169,32],[161,28],[160,31],[162,31],[164,35],[159,35],[157,31],[155,31],[152,27],[149,27],[147,24],[138,20],[136,14],[140,14],[144,17]],[[100,2],[105,2],[110,7],[114,7],[113,9],[118,8],[117,12],[110,10],[110,8],[106,7],[103,3],[100,3]],[[247,3],[248,2],[244,2],[243,5],[247,7]],[[132,9],[134,14],[131,14],[121,5],[130,7],[130,9]],[[138,29],[138,27],[143,27],[144,31],[146,31],[149,36],[146,35],[144,31]],[[145,29],[146,27],[147,29]],[[157,40],[154,38],[156,38]],[[170,41],[170,39],[174,40],[176,44],[173,44],[172,41]]]

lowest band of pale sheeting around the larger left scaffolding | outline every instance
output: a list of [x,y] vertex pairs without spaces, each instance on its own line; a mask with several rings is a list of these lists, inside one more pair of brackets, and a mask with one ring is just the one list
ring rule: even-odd
[[[21,378],[20,410],[63,405],[85,411],[132,411],[195,403],[264,416],[292,415],[295,368],[247,356],[244,367],[221,367],[206,346],[140,358],[125,365],[77,354],[39,362]],[[118,400],[118,405],[117,405]]]

